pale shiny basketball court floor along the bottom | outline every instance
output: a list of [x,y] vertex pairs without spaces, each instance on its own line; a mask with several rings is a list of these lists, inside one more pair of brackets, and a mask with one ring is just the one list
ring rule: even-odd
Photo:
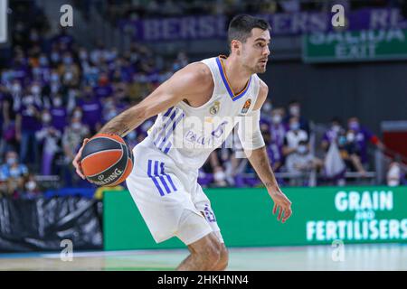
[[[344,248],[342,258],[330,246],[231,248],[228,270],[407,270],[407,244]],[[174,270],[187,255],[186,249],[79,252],[62,261],[59,253],[0,254],[0,270]]]

